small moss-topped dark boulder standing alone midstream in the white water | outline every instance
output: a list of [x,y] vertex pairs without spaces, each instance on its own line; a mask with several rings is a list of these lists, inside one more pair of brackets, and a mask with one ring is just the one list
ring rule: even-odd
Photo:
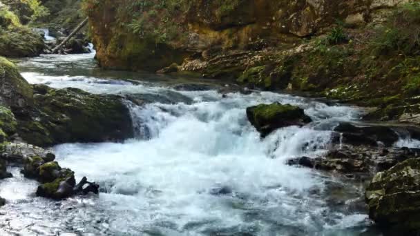
[[247,108],[249,122],[261,133],[269,135],[277,128],[285,126],[303,126],[312,121],[303,109],[290,104],[260,104]]

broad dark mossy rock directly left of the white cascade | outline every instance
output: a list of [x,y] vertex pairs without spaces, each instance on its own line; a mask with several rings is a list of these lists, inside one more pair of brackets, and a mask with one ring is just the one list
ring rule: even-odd
[[67,142],[120,141],[133,137],[128,108],[120,97],[76,88],[37,89],[35,107],[14,110],[18,133],[37,146]]

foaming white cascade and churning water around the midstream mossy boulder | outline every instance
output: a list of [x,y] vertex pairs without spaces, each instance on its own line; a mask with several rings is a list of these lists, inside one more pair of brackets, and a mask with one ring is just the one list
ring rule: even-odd
[[[115,214],[112,230],[163,235],[323,232],[327,206],[311,195],[313,189],[323,190],[323,180],[285,160],[322,152],[330,131],[289,127],[261,140],[245,116],[247,106],[261,102],[304,105],[305,99],[266,92],[227,99],[216,91],[183,93],[196,102],[132,108],[133,119],[149,129],[148,139],[56,147],[63,166],[104,188],[98,201]],[[333,117],[334,109],[317,108],[325,119],[357,113],[347,109]]]

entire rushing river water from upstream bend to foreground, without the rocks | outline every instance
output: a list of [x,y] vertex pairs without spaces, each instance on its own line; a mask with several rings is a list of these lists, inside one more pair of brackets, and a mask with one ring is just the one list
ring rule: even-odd
[[[124,73],[97,77],[93,55],[48,55],[20,66],[30,83],[120,95],[171,90],[193,103],[128,103],[147,138],[56,146],[59,164],[77,179],[97,181],[99,197],[36,198],[37,183],[12,168],[15,178],[0,184],[8,200],[0,208],[0,235],[377,235],[364,210],[330,203],[337,186],[345,188],[345,204],[357,201],[358,184],[285,164],[325,152],[334,125],[359,119],[357,108],[273,92],[222,98],[216,90],[175,91],[159,78],[151,83],[156,75],[137,83]],[[261,140],[245,109],[274,101],[304,108],[314,122]]]

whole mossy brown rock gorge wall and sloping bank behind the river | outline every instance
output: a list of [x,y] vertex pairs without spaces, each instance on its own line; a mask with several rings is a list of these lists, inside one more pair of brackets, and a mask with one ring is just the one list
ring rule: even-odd
[[103,68],[292,90],[420,124],[420,3],[410,0],[93,1]]

